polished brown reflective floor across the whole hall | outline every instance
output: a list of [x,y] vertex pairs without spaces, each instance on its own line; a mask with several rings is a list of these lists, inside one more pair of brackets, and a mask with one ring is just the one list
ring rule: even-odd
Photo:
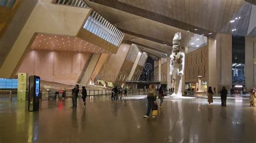
[[256,142],[256,108],[244,98],[165,99],[160,115],[143,118],[145,96],[112,102],[87,98],[71,109],[71,99],[42,101],[38,112],[24,102],[0,103],[0,142]]

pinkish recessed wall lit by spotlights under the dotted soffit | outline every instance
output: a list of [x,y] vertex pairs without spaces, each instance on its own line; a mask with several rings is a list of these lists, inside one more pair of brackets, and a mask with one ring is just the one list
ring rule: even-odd
[[38,75],[44,81],[75,84],[90,54],[32,49],[26,53],[17,73]]

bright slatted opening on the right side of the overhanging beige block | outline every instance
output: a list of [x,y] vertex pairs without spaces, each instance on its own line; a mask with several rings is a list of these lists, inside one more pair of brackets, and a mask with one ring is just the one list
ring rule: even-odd
[[105,18],[93,11],[84,24],[84,28],[98,37],[119,46],[124,37],[124,33],[114,25],[107,22]]

